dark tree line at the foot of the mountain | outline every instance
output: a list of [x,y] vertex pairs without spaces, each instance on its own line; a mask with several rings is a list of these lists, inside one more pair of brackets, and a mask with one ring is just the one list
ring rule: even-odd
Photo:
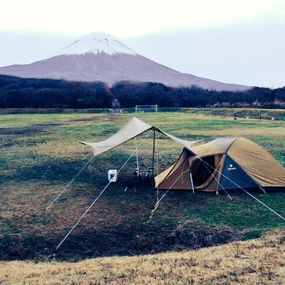
[[243,92],[204,90],[197,86],[171,88],[161,83],[119,82],[112,88],[102,82],[0,76],[0,108],[121,108],[260,107],[285,108],[285,87],[252,88]]

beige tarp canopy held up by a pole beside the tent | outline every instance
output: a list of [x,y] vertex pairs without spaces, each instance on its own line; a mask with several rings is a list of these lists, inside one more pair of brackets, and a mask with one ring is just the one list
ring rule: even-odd
[[142,122],[138,118],[133,117],[126,123],[117,133],[111,135],[106,140],[102,142],[81,142],[83,145],[90,145],[93,147],[94,155],[99,155],[107,150],[110,150],[118,145],[122,145],[124,142],[131,140],[138,135],[145,133],[147,130],[157,130],[158,132],[166,135],[168,138],[174,140],[175,142],[179,143],[183,147],[187,147],[190,149],[192,145],[197,143],[198,141],[189,141],[189,140],[182,140],[181,138],[176,138],[174,135],[170,135],[165,133],[164,131],[160,130],[156,126],[148,125],[147,123]]

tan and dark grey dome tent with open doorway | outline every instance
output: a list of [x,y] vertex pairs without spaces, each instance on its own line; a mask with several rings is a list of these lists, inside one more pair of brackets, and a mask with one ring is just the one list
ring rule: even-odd
[[[192,186],[193,185],[193,186]],[[254,187],[285,190],[285,168],[264,148],[245,138],[217,138],[182,151],[155,177],[155,187],[216,192]]]

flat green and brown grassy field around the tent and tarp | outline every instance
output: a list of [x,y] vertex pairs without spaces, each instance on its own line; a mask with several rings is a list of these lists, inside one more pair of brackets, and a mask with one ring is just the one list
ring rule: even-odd
[[[95,160],[46,212],[49,202],[81,170],[91,152],[78,140],[99,141],[134,114],[48,113],[0,115],[0,258],[76,261],[91,257],[155,254],[197,249],[284,229],[284,222],[242,193],[227,196],[170,192],[152,222],[145,224],[156,202],[152,185],[124,192],[135,157],[118,182],[110,185],[66,240],[56,245],[107,184],[108,169],[118,169],[135,147],[130,141]],[[140,113],[138,118],[187,140],[208,141],[224,135],[243,136],[269,150],[285,166],[285,123],[281,120],[218,118],[196,113]],[[145,135],[138,138],[138,143]],[[157,140],[159,171],[181,152],[180,145]],[[138,151],[150,165],[152,138]],[[161,196],[163,192],[160,192]],[[285,215],[285,193],[254,194]],[[79,284],[79,283],[78,283]],[[181,283],[182,284],[182,283]]]

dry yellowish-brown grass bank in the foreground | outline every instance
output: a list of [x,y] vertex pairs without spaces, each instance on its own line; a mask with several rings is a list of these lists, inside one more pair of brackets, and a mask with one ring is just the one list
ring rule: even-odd
[[1,261],[0,284],[284,284],[284,232],[185,252],[77,263]]

